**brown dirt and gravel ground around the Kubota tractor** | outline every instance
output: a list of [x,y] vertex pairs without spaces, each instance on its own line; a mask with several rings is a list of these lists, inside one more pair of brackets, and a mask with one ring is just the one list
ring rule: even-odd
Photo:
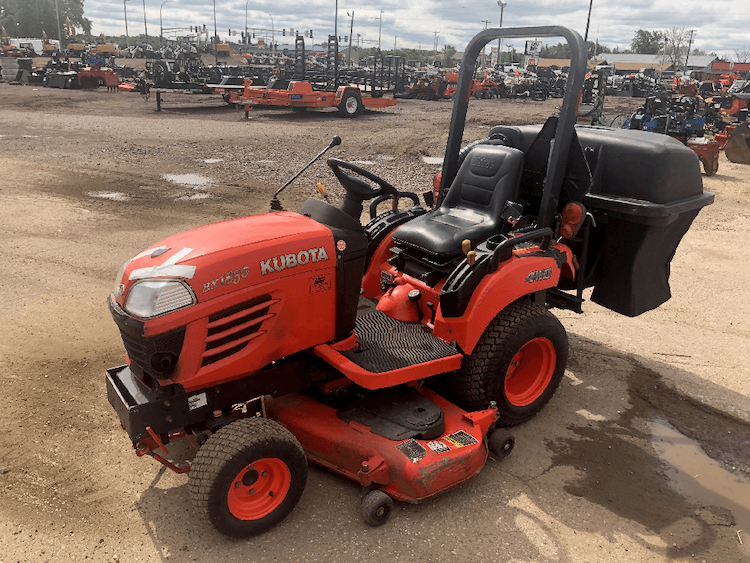
[[[558,105],[472,101],[464,140]],[[195,518],[187,477],[134,455],[107,403],[104,371],[124,357],[105,305],[115,275],[169,234],[266,211],[333,135],[343,143],[331,156],[428,189],[439,166],[424,157],[442,156],[451,102],[400,101],[354,120],[269,109],[245,120],[217,97],[166,96],[163,108],[0,84],[0,562],[750,559],[750,304],[738,289],[750,267],[735,254],[750,225],[748,167],[722,155],[703,177],[716,202],[677,250],[665,305],[634,319],[590,302],[559,314],[567,377],[514,430],[507,459],[398,504],[380,528],[361,521],[357,486],[311,468],[281,525],[232,541]],[[282,203],[296,209],[317,181],[341,195],[318,163]]]

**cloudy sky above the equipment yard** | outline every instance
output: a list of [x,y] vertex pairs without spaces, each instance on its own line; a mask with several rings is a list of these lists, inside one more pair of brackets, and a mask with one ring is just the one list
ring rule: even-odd
[[[124,6],[128,31],[144,31],[144,1],[149,35],[159,34],[159,16],[165,28],[205,24],[213,31],[213,0],[85,0],[84,15],[92,33],[123,35]],[[504,0],[506,1],[506,0]],[[272,27],[312,29],[316,42],[324,41],[334,30],[335,0],[215,0],[219,35],[226,38],[229,29]],[[679,6],[679,7],[676,7]],[[589,0],[507,0],[503,26],[563,25],[581,35],[586,30]],[[381,28],[382,10],[382,28]],[[339,0],[339,35],[349,34],[347,12],[354,13],[355,38],[362,46],[382,48],[412,47],[431,49],[436,32],[438,49],[449,44],[462,51],[479,31],[498,27],[500,7],[497,0]],[[485,23],[485,20],[487,23]],[[735,60],[735,51],[750,50],[750,2],[748,0],[593,0],[589,40],[608,47],[626,49],[638,29],[648,31],[672,28],[695,29],[694,46]],[[282,38],[286,39],[286,38]],[[557,40],[553,40],[557,43]],[[522,49],[522,43],[516,44]]]

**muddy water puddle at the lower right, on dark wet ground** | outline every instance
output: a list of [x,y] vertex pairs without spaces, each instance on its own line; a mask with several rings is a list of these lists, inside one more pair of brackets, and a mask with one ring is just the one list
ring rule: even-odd
[[667,475],[674,488],[691,501],[730,510],[737,530],[743,530],[740,549],[750,555],[750,482],[724,469],[667,422],[657,420],[649,426],[654,448],[669,464]]

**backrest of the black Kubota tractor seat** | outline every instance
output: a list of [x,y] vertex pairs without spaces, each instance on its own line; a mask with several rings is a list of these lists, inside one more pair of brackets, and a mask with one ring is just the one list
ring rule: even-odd
[[502,145],[478,145],[467,155],[441,207],[470,209],[499,218],[515,201],[523,172],[523,153]]

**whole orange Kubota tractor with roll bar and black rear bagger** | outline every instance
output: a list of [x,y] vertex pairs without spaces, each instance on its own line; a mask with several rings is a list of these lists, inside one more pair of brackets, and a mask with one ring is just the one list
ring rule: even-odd
[[[571,51],[559,114],[461,149],[482,48],[559,36]],[[628,316],[670,297],[670,260],[713,195],[679,141],[575,126],[586,58],[562,27],[474,37],[429,208],[377,214],[417,198],[329,158],[338,207],[283,210],[300,172],[271,212],[176,234],[123,266],[108,303],[127,364],[108,370],[108,399],[139,456],[188,472],[216,529],[279,523],[308,461],[369,489],[363,517],[384,523],[392,499],[426,499],[475,475],[488,450],[507,455],[503,428],[550,401],[568,357],[552,308],[581,312],[586,287]]]

